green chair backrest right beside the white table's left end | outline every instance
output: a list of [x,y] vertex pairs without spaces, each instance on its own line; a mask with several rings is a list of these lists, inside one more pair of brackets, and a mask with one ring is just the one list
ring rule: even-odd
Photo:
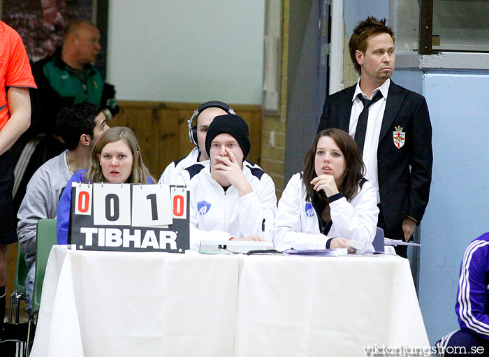
[[44,274],[51,247],[57,244],[56,219],[39,219],[36,234],[36,276],[34,278],[34,292],[32,294],[32,311],[36,312],[41,305],[41,291],[43,289]]

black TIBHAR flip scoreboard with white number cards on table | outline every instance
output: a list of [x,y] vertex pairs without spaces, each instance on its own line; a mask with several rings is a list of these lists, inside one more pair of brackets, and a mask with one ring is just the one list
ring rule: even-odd
[[73,182],[72,249],[183,253],[189,249],[189,190],[168,184]]

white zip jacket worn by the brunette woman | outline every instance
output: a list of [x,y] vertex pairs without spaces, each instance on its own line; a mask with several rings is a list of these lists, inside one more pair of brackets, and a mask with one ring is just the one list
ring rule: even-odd
[[333,225],[328,235],[319,231],[319,221],[312,204],[305,200],[306,189],[300,173],[291,177],[279,201],[275,217],[275,247],[298,250],[325,249],[329,238],[346,238],[365,243],[357,253],[374,252],[372,241],[377,231],[379,208],[374,185],[365,181],[350,202],[342,197],[330,202]]

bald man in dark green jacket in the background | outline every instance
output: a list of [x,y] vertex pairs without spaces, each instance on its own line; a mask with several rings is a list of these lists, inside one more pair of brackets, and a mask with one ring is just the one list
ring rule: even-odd
[[66,28],[63,47],[54,56],[34,64],[34,78],[40,83],[33,103],[32,129],[36,133],[57,135],[57,113],[75,103],[88,101],[101,105],[107,120],[118,112],[114,87],[105,83],[93,66],[101,50],[99,39],[100,33],[91,22],[71,22]]

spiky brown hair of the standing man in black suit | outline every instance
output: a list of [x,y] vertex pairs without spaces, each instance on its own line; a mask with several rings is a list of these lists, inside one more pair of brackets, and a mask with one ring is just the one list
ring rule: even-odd
[[395,41],[394,31],[391,27],[386,26],[386,19],[377,20],[375,17],[369,16],[367,20],[358,22],[355,29],[353,29],[348,47],[353,66],[360,75],[362,74],[362,68],[356,61],[356,50],[365,53],[369,36],[377,34],[389,34],[392,37],[392,41]]

